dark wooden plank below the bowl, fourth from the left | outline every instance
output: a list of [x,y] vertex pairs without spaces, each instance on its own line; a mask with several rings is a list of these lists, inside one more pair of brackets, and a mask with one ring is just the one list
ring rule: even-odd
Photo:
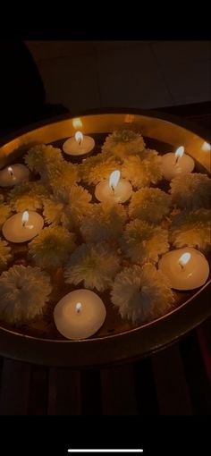
[[191,401],[178,344],[152,357],[160,415],[191,415]]

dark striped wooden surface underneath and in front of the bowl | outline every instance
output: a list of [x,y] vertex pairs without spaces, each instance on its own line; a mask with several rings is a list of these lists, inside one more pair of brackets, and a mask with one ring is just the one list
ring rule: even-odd
[[0,415],[210,415],[211,319],[151,358],[71,370],[0,359]]

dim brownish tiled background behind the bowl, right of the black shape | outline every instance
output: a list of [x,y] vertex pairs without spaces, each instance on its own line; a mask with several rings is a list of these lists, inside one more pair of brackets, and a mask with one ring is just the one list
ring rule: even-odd
[[211,99],[209,41],[27,41],[48,103],[156,108]]

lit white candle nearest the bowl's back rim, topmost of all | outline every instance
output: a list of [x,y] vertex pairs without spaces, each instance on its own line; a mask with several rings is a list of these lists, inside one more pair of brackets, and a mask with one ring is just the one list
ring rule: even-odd
[[90,136],[83,136],[80,131],[76,131],[72,138],[63,143],[63,152],[69,156],[83,156],[95,147],[95,141]]

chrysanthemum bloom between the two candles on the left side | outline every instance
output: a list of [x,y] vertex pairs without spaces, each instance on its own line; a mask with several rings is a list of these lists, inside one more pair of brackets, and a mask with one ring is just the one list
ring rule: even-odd
[[11,206],[17,212],[41,209],[44,199],[48,196],[49,191],[40,182],[21,183],[9,193]]

